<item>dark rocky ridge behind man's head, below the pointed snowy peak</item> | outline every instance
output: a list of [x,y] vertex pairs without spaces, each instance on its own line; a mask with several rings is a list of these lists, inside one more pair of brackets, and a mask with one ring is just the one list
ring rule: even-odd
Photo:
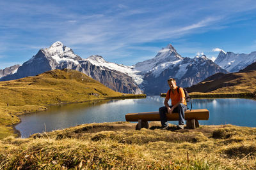
[[159,76],[154,73],[146,74],[143,81],[143,90],[146,94],[158,95],[170,89],[166,81],[169,78],[175,78],[177,85],[180,87],[190,87],[219,72],[228,73],[205,55],[196,56],[193,59],[185,57],[164,69]]

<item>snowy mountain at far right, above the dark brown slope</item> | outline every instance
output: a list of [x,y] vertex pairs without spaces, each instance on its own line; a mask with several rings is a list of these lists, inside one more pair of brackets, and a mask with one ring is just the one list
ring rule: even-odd
[[256,62],[256,52],[246,54],[221,51],[214,62],[223,69],[234,73]]

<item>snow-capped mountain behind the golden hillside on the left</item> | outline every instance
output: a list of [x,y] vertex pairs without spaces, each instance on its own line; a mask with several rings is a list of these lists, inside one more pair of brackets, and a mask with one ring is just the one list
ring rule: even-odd
[[60,41],[53,43],[49,48],[39,50],[36,55],[19,67],[17,73],[4,76],[0,80],[13,80],[26,76],[35,76],[45,71],[63,68],[81,71],[118,92],[142,93],[132,77],[125,73],[125,68],[129,71],[128,67],[106,62],[99,55],[82,59]]

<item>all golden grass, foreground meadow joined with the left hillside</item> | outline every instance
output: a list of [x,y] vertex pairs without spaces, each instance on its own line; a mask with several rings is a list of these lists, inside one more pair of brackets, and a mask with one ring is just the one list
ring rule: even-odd
[[256,128],[250,127],[161,131],[150,122],[150,129],[135,131],[135,124],[114,122],[15,138],[11,125],[19,115],[50,104],[145,97],[114,92],[76,71],[0,82],[0,94],[0,169],[256,169]]

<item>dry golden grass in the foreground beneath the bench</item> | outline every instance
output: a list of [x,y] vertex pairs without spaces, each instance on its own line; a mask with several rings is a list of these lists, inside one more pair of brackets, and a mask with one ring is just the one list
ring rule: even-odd
[[[174,126],[174,125],[173,125]],[[0,169],[255,169],[256,128],[234,125],[135,131],[127,122],[8,137]]]

